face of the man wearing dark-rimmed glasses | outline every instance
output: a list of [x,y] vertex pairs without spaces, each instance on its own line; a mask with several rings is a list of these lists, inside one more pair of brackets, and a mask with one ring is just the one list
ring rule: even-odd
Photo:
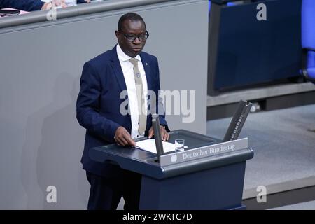
[[[139,55],[146,40],[140,41],[139,38],[135,38],[134,41],[128,41],[127,37],[132,35],[146,35],[146,26],[141,21],[125,20],[123,22],[123,28],[121,31],[115,32],[120,48],[130,57],[136,57]],[[127,37],[126,37],[127,36]]]

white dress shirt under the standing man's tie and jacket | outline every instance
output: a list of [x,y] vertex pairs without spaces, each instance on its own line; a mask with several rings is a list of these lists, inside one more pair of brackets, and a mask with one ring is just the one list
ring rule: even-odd
[[[129,108],[130,108],[130,116],[131,116],[131,122],[132,122],[132,132],[131,136],[132,139],[137,139],[140,137],[144,137],[143,135],[139,134],[139,112],[138,112],[138,101],[137,101],[137,89],[136,89],[136,83],[134,80],[134,66],[129,61],[131,58],[130,56],[126,55],[125,52],[120,48],[120,45],[117,44],[116,47],[118,59],[120,62],[121,69],[123,70],[125,83],[127,87],[127,93],[128,93],[128,99],[129,99]],[[144,104],[146,108],[148,107],[148,83],[146,82],[146,72],[144,71],[144,65],[141,62],[140,55],[137,55],[135,57],[138,59],[138,67],[139,71],[141,73],[141,79],[142,79],[142,85],[144,86]],[[147,115],[146,111],[146,115]]]

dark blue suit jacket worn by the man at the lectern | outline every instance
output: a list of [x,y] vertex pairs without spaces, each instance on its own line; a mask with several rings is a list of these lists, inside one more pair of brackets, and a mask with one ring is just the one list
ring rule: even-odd
[[[146,71],[148,90],[153,90],[158,96],[160,90],[158,59],[146,52],[141,52],[140,57]],[[86,129],[81,159],[83,169],[99,176],[116,175],[120,172],[119,167],[94,162],[88,155],[92,147],[114,143],[115,132],[119,126],[125,127],[128,132],[132,129],[130,114],[120,113],[120,104],[125,101],[120,99],[120,92],[127,90],[127,87],[116,47],[84,64],[80,86],[76,117],[78,123]],[[148,115],[146,135],[152,126],[151,119],[151,115]],[[164,114],[160,116],[160,123],[167,125]]]

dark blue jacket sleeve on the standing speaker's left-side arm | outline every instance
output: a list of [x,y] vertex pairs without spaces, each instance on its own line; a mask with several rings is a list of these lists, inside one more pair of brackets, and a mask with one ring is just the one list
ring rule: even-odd
[[102,83],[99,74],[94,71],[89,62],[85,63],[76,102],[76,118],[87,131],[106,141],[113,141],[115,132],[120,125],[99,113],[101,91]]

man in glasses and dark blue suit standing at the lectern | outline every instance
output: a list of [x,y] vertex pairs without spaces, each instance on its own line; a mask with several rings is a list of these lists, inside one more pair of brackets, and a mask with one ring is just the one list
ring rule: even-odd
[[[164,141],[169,139],[164,109],[159,101],[148,100],[148,92],[158,98],[160,74],[158,59],[142,52],[148,38],[146,23],[140,15],[127,13],[118,22],[116,37],[118,45],[86,62],[80,79],[76,106],[78,122],[86,129],[81,162],[91,185],[88,209],[117,209],[122,196],[124,209],[139,209],[141,175],[109,162],[94,162],[88,155],[95,146],[115,142],[134,146],[137,137],[153,137],[151,113],[141,118],[139,104],[163,111],[159,115],[161,136]],[[142,91],[143,102],[138,90]],[[121,97],[123,92],[127,92],[127,99]]]

